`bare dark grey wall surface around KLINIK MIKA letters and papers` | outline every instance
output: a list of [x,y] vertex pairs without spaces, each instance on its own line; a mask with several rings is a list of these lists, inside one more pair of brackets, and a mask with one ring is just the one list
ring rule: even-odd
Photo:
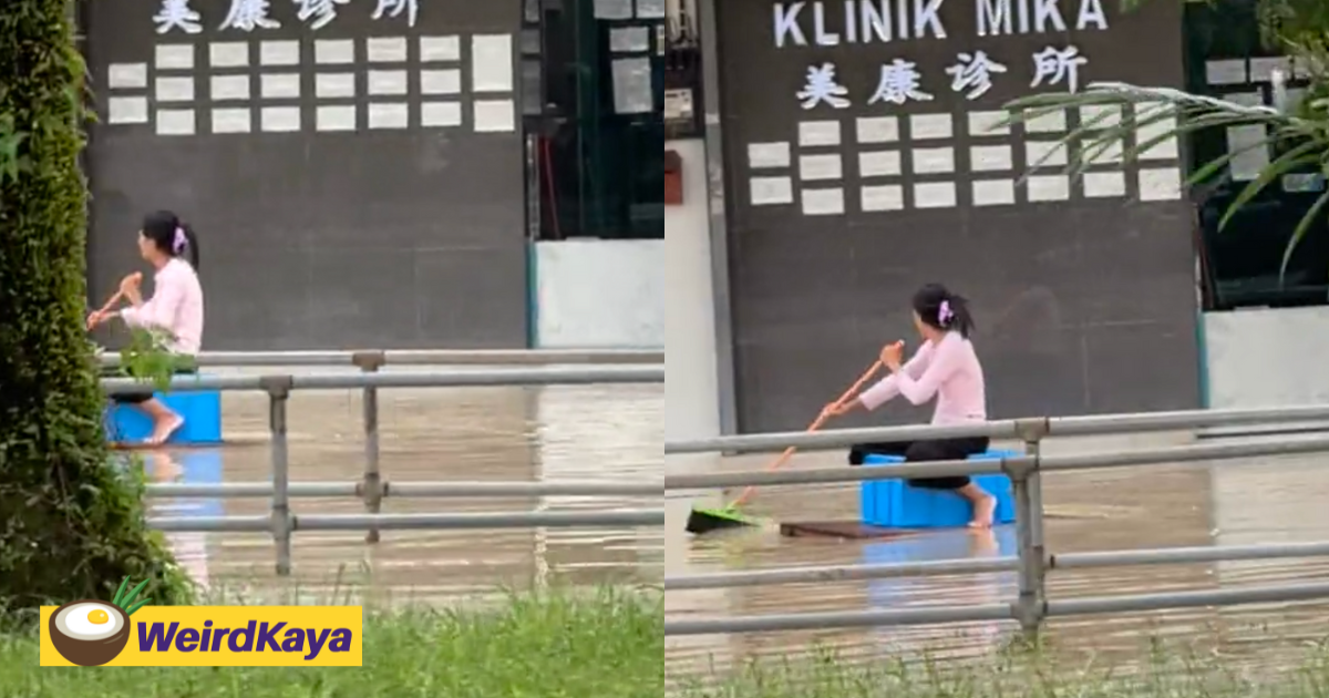
[[[1180,8],[1151,3],[1119,16],[1103,1],[1104,32],[1029,33],[978,37],[973,1],[948,0],[942,9],[949,37],[831,48],[775,48],[769,0],[718,3],[722,55],[722,114],[726,129],[727,201],[739,421],[743,431],[803,428],[835,399],[888,340],[916,346],[909,296],[925,282],[942,282],[969,296],[979,324],[975,336],[989,383],[990,413],[998,417],[1196,407],[1197,347],[1195,257],[1188,203],[1138,201],[1134,165],[1126,195],[1087,198],[1071,187],[1070,201],[1030,202],[1017,189],[1015,203],[975,207],[969,193],[966,110],[999,109],[1027,94],[1031,56],[1067,41],[1088,64],[1080,85],[1122,80],[1181,85]],[[825,3],[828,24],[839,24],[841,3]],[[890,3],[892,5],[894,3]],[[1018,3],[1017,3],[1018,4]],[[812,3],[803,27],[811,39]],[[1074,23],[1079,0],[1062,0]],[[843,35],[843,32],[841,32]],[[961,51],[986,51],[1005,64],[994,88],[968,102],[950,90],[944,73]],[[865,102],[878,68],[893,58],[916,61],[930,102],[905,106]],[[835,62],[853,106],[804,112],[795,98],[809,65]],[[1065,88],[1054,88],[1057,90]],[[954,175],[958,206],[909,206],[864,213],[859,209],[855,117],[954,114]],[[804,215],[797,203],[797,122],[839,120],[844,154],[844,215]],[[1073,114],[1069,128],[1074,128]],[[902,118],[901,124],[908,124]],[[901,126],[908,137],[908,126]],[[1025,169],[1017,126],[1014,170]],[[793,203],[754,206],[750,142],[789,141]],[[985,141],[987,142],[987,141]],[[898,146],[900,144],[893,144]],[[909,150],[910,144],[905,144]],[[932,145],[932,144],[917,144]],[[941,145],[941,144],[938,144]],[[1163,162],[1175,168],[1177,158]],[[1053,168],[1059,172],[1062,168]],[[812,182],[813,185],[819,182]],[[864,421],[926,420],[929,412],[893,406]]]

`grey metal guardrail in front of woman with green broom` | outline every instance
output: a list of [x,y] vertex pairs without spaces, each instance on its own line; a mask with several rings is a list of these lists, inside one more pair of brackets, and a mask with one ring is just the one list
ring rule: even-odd
[[1038,417],[946,427],[886,427],[837,429],[820,433],[763,433],[726,436],[664,444],[664,453],[718,451],[783,451],[844,448],[864,441],[901,441],[956,436],[1019,439],[1026,453],[1002,460],[905,463],[882,468],[819,468],[792,472],[726,472],[664,477],[664,489],[706,489],[746,485],[795,485],[811,483],[853,483],[957,475],[1005,473],[1015,500],[1014,557],[985,560],[941,560],[873,565],[793,566],[746,572],[674,576],[664,578],[666,590],[762,586],[768,584],[820,584],[831,581],[889,577],[973,574],[1015,572],[1018,594],[1010,604],[930,606],[869,612],[792,613],[735,616],[707,620],[666,621],[666,636],[815,630],[867,628],[878,625],[928,625],[970,621],[1015,620],[1026,634],[1037,634],[1049,617],[1095,613],[1140,612],[1195,606],[1289,602],[1329,598],[1329,584],[1259,586],[1203,592],[1164,592],[1094,598],[1049,600],[1046,577],[1057,569],[1122,565],[1163,565],[1220,560],[1268,560],[1329,556],[1329,541],[1308,544],[1228,545],[1205,548],[1159,548],[1050,554],[1043,544],[1041,475],[1045,471],[1118,468],[1179,461],[1231,464],[1239,459],[1292,453],[1329,452],[1329,436],[1217,443],[1135,451],[1045,456],[1042,440],[1050,435],[1090,436],[1140,431],[1199,429],[1224,425],[1297,423],[1329,419],[1329,406],[1268,409],[1180,411],[1140,415],[1086,417]]

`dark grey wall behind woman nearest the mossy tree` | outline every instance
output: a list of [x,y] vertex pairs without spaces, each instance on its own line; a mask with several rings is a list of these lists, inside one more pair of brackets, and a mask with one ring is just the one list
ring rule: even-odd
[[[193,106],[206,129],[207,44],[250,41],[254,132],[167,137],[152,124],[96,126],[88,154],[90,294],[105,298],[122,274],[142,267],[134,247],[141,217],[170,209],[202,238],[207,350],[525,346],[521,136],[474,132],[469,80],[470,35],[514,35],[521,4],[421,1],[412,29],[404,16],[372,20],[375,3],[356,0],[336,5],[338,19],[315,32],[298,20],[294,3],[274,1],[283,27],[253,33],[218,31],[229,0],[190,4],[203,32],[162,37],[152,21],[158,0],[86,3],[100,112],[106,114],[110,94],[126,94],[106,88],[110,64],[148,62],[149,89],[140,93],[150,96],[154,44],[189,41],[197,47]],[[364,39],[411,37],[408,64],[393,68],[408,70],[407,101],[417,105],[420,35],[461,37],[460,65],[437,68],[461,69],[462,125],[425,129],[412,106],[407,129],[365,129]],[[300,98],[259,102],[256,76],[270,69],[258,66],[258,43],[283,39],[302,44]],[[354,39],[355,65],[316,65],[315,39]],[[355,133],[314,129],[316,104],[331,104],[315,100],[314,76],[334,69],[356,73]],[[303,129],[260,133],[258,108],[268,104],[299,105]]]

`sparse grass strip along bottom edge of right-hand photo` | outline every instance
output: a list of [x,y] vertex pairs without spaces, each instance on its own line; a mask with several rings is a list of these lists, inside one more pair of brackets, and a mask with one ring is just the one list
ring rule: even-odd
[[1329,698],[1329,646],[1317,645],[1302,663],[1281,670],[1251,670],[1212,653],[1159,646],[1128,667],[1088,658],[1069,663],[1027,651],[964,662],[848,662],[815,651],[684,681],[670,693],[687,698]]

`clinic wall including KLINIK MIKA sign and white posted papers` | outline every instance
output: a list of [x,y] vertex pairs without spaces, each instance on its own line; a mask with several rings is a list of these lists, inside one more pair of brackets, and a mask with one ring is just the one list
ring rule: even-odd
[[[1199,404],[1177,144],[1128,165],[1108,152],[1076,181],[1065,157],[1033,165],[1102,113],[995,126],[1006,101],[1073,77],[1181,86],[1177,3],[734,0],[716,13],[740,431],[804,427],[909,336],[925,282],[971,299],[997,417]],[[998,64],[990,84],[975,61]]]

